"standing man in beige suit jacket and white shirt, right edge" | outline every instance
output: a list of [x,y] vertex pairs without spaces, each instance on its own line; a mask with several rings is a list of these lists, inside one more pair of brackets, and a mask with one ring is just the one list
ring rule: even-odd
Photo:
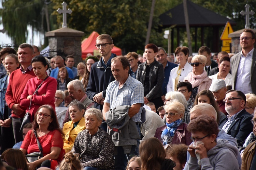
[[234,80],[232,89],[244,94],[256,94],[256,49],[254,48],[255,33],[244,29],[240,34],[242,51],[231,57],[231,74]]

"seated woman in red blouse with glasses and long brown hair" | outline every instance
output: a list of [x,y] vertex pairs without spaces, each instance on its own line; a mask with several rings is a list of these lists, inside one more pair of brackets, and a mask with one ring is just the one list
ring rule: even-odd
[[24,155],[40,152],[34,134],[36,131],[37,138],[43,148],[43,157],[28,163],[29,170],[34,170],[40,166],[54,169],[63,158],[65,150],[63,150],[63,132],[59,127],[53,107],[50,105],[39,107],[32,124],[33,130],[28,131],[20,150]]

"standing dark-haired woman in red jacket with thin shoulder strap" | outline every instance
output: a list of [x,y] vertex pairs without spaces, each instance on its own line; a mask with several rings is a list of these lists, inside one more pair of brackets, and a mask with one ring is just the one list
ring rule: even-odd
[[[28,80],[23,94],[20,96],[19,103],[21,106],[27,107],[26,112],[28,112],[31,101],[30,114],[32,114],[32,116],[30,121],[32,122],[32,118],[40,106],[49,104],[55,110],[54,97],[57,90],[57,80],[46,74],[46,70],[49,66],[43,56],[35,56],[31,64],[37,77]],[[40,88],[34,94],[40,84]]]

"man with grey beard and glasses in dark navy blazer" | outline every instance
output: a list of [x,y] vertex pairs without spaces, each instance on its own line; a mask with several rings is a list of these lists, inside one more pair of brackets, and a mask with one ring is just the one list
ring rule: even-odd
[[225,110],[228,115],[219,123],[219,128],[237,139],[238,146],[243,146],[247,136],[253,131],[253,116],[245,111],[246,97],[242,91],[226,92]]

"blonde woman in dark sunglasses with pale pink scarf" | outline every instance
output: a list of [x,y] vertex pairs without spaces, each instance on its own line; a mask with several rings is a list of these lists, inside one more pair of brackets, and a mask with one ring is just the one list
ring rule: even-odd
[[191,66],[193,66],[192,72],[188,73],[184,81],[188,81],[192,84],[193,90],[190,96],[191,100],[194,102],[195,97],[199,91],[204,89],[209,90],[212,80],[207,77],[207,72],[204,70],[207,58],[204,55],[195,55],[192,58]]

